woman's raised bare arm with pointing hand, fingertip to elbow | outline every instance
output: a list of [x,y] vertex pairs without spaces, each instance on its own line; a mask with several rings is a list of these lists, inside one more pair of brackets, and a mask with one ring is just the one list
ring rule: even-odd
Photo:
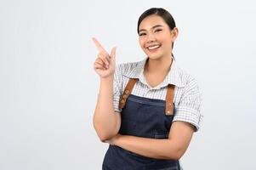
[[119,131],[121,125],[120,113],[114,111],[113,80],[116,69],[116,48],[112,48],[111,55],[95,38],[93,41],[99,50],[94,62],[94,70],[100,76],[100,92],[94,111],[94,128],[101,141],[111,139]]

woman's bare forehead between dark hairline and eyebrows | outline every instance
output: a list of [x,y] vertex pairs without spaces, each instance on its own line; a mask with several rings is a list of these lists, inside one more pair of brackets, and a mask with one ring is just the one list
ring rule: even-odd
[[151,27],[161,25],[161,26],[168,26],[167,23],[162,19],[161,16],[158,16],[156,14],[149,15],[145,17],[144,20],[141,21],[139,25],[140,29],[151,29]]

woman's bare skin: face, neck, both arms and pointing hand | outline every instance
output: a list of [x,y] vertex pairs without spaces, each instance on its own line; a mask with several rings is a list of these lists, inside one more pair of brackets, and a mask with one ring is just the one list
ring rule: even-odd
[[[151,87],[162,82],[168,74],[172,64],[172,43],[178,34],[176,27],[170,31],[165,21],[155,14],[146,17],[140,23],[139,45],[149,57],[145,64],[144,74]],[[94,113],[94,127],[101,141],[117,145],[141,156],[179,160],[185,154],[194,133],[194,127],[190,123],[173,122],[168,139],[146,139],[118,133],[121,115],[119,112],[114,114],[112,104],[116,48],[113,48],[109,55],[100,42],[94,39],[94,43],[99,49],[94,69],[100,76],[100,94]],[[160,47],[150,50],[148,47],[153,45],[160,45]],[[109,66],[107,66],[108,63]]]

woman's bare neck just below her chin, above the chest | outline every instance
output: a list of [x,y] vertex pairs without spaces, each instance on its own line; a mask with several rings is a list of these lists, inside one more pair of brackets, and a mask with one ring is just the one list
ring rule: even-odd
[[161,59],[148,59],[145,65],[145,72],[148,74],[168,74],[172,65],[172,55],[162,57]]

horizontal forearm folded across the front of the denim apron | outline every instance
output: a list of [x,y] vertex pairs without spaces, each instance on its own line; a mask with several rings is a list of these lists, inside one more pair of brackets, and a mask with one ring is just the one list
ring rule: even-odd
[[115,145],[141,156],[156,159],[179,160],[183,153],[179,150],[178,144],[175,144],[171,139],[146,139],[120,135],[115,141]]

